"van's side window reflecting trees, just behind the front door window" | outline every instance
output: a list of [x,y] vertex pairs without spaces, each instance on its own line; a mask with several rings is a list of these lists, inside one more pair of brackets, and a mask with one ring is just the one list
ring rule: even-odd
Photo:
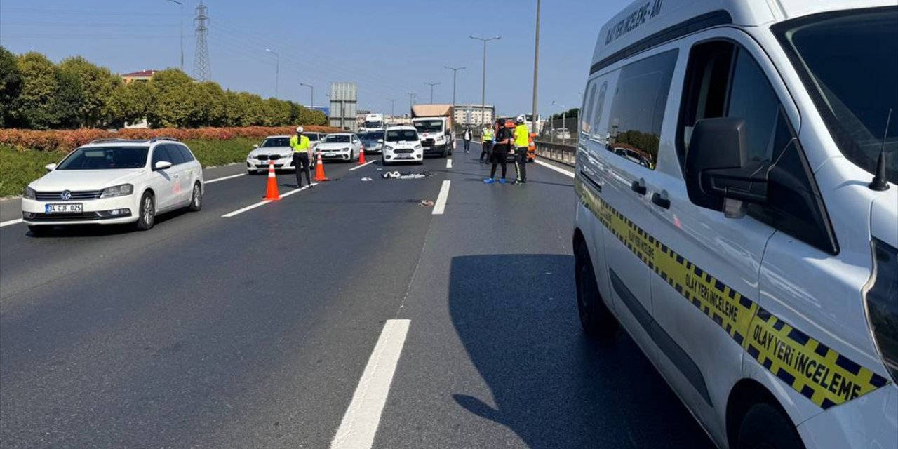
[[621,69],[609,115],[607,149],[654,170],[677,50],[647,57]]

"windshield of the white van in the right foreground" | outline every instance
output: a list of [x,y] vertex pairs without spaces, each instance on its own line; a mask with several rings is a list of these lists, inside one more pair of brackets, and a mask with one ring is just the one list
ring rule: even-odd
[[885,176],[898,182],[898,7],[814,16],[774,30],[841,153],[873,173],[885,138]]

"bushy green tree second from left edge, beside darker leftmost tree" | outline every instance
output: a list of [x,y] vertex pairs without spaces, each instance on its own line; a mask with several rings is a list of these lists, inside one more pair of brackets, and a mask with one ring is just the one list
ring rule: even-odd
[[53,98],[59,87],[57,67],[36,51],[17,57],[16,66],[22,74],[22,90],[11,111],[15,125],[37,129],[56,127]]

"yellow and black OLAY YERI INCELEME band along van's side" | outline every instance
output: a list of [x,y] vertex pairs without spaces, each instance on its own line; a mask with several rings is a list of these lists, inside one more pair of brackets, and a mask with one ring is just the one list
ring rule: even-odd
[[649,269],[796,392],[829,409],[889,383],[770,314],[656,240],[595,195],[580,176],[578,173],[574,180],[580,203]]

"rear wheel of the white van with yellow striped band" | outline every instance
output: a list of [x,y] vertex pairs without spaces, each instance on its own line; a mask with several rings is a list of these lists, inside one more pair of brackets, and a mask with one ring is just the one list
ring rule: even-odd
[[618,322],[599,294],[593,261],[589,259],[589,250],[586,249],[585,243],[577,245],[574,273],[577,278],[577,312],[580,314],[583,331],[590,337],[614,335],[618,329]]

